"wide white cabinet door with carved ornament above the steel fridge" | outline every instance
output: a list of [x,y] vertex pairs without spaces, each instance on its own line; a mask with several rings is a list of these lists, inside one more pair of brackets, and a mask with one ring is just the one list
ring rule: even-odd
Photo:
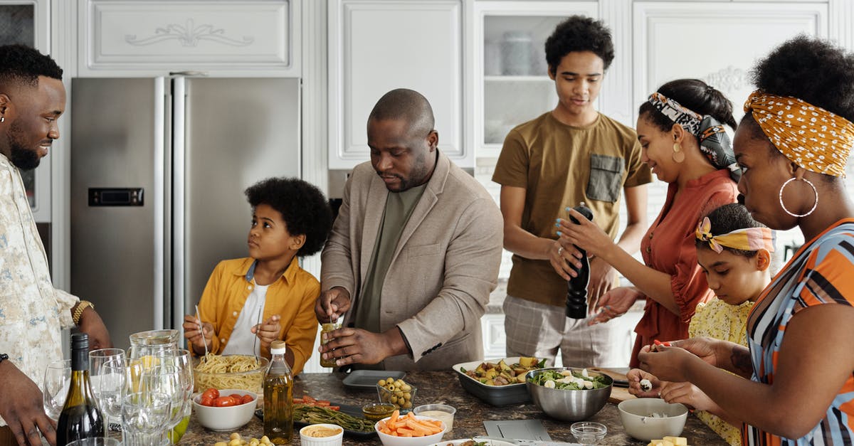
[[301,0],[81,0],[79,75],[300,76]]

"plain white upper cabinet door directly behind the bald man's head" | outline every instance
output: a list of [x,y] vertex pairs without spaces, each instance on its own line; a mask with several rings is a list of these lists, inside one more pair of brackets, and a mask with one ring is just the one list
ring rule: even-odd
[[329,9],[329,167],[370,159],[366,126],[387,91],[430,101],[439,150],[474,166],[465,147],[462,0],[333,0]]

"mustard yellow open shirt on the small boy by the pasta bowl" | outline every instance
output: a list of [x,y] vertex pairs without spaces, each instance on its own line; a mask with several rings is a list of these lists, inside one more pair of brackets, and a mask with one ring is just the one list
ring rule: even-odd
[[[220,261],[213,268],[199,302],[202,321],[213,324],[215,336],[211,353],[219,355],[225,349],[243,304],[254,288],[253,275],[254,259],[249,257]],[[278,339],[284,340],[287,348],[294,352],[294,375],[300,373],[312,355],[318,331],[314,301],[319,295],[318,279],[302,269],[296,257],[282,277],[267,288],[262,320],[278,314],[282,326]],[[261,349],[261,355],[269,358],[269,349]]]

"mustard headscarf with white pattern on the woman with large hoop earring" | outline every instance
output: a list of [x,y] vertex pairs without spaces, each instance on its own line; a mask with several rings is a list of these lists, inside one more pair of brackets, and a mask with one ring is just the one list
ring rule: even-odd
[[845,177],[854,123],[796,97],[753,91],[745,102],[753,119],[789,161],[816,173]]

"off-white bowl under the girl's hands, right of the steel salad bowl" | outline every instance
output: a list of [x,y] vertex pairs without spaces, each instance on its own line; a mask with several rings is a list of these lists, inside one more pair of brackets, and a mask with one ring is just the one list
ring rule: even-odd
[[[685,428],[688,409],[676,402],[669,404],[661,398],[636,398],[617,405],[623,429],[631,437],[649,441],[666,436],[679,437]],[[652,414],[662,414],[655,417]]]

